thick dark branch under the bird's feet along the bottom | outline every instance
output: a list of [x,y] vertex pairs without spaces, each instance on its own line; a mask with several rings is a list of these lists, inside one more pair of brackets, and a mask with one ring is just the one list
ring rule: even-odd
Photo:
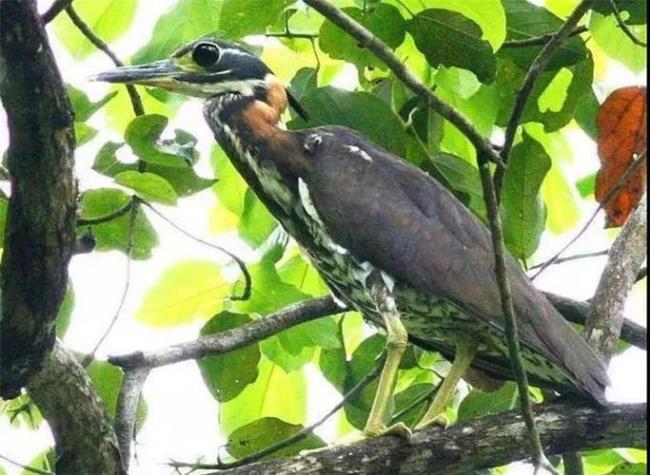
[[[535,409],[544,450],[548,454],[605,447],[645,448],[645,404],[603,409],[550,404]],[[368,439],[291,459],[247,465],[219,475],[469,473],[505,465],[528,456],[526,427],[518,411],[473,419],[447,429],[399,437]]]

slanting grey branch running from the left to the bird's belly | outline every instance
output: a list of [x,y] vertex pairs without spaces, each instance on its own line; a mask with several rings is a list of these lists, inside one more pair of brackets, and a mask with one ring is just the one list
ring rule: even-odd
[[203,356],[227,353],[263,340],[294,325],[343,311],[331,297],[296,303],[232,330],[204,336],[187,343],[171,345],[162,350],[112,356],[114,365],[129,368],[155,368]]

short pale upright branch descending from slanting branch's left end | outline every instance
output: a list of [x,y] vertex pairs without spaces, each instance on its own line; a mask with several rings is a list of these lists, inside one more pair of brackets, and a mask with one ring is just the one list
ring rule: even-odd
[[124,469],[128,472],[131,459],[131,441],[135,437],[135,424],[142,387],[149,376],[148,368],[129,369],[124,374],[122,387],[117,398],[115,435],[120,446]]

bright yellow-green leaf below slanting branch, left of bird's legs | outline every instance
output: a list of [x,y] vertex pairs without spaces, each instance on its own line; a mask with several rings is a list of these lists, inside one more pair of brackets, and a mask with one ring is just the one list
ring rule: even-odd
[[287,373],[262,357],[259,376],[236,398],[219,406],[219,426],[229,435],[262,417],[303,424],[307,416],[307,380],[301,371]]

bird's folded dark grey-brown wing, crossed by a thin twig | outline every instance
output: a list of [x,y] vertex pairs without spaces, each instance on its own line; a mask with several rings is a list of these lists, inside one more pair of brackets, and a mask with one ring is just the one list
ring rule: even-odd
[[[440,183],[355,132],[314,132],[323,141],[305,182],[334,240],[396,279],[503,329],[487,228]],[[604,401],[608,380],[600,359],[511,256],[508,273],[522,342]]]

